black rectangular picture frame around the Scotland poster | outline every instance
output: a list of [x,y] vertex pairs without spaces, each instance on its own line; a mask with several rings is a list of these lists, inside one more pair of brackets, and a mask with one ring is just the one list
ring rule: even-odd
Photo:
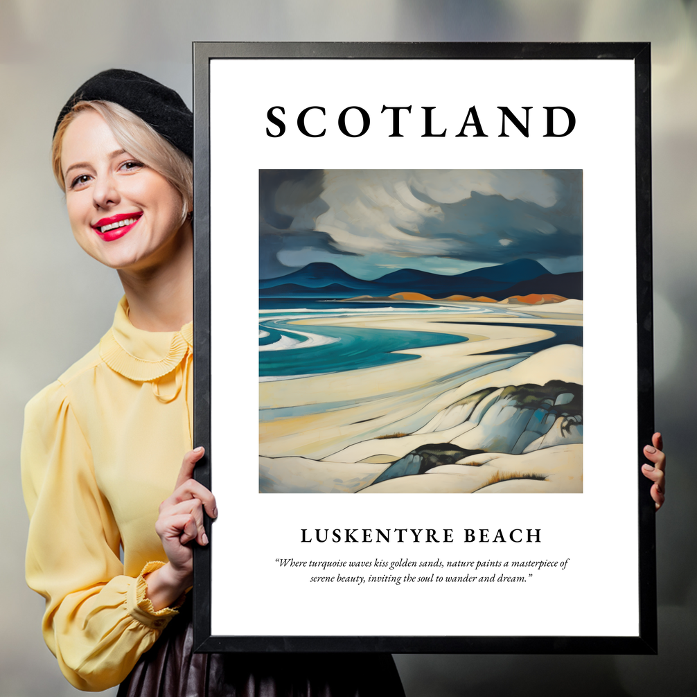
[[[510,654],[653,654],[657,652],[654,504],[641,475],[642,448],[653,433],[652,208],[650,45],[648,43],[194,43],[194,445],[206,456],[199,482],[215,493],[211,450],[209,69],[213,59],[550,59],[634,62],[636,117],[636,289],[638,442],[636,477],[639,627],[636,636],[219,636],[211,633],[210,545],[194,551],[194,645],[197,652],[395,652]],[[236,599],[231,598],[231,602]]]

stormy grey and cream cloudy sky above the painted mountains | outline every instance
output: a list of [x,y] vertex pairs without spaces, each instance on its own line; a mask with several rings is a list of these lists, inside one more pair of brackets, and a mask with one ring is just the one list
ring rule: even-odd
[[365,279],[582,268],[581,170],[263,170],[259,194],[261,278],[316,261]]

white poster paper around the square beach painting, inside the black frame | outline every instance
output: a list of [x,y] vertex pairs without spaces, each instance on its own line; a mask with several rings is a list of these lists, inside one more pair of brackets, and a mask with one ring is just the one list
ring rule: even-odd
[[[383,105],[402,112],[403,138]],[[282,105],[283,137],[268,109]],[[297,128],[326,128],[309,138]],[[369,131],[340,132],[360,105]],[[487,138],[456,138],[475,105]],[[576,115],[572,135],[542,137],[544,106]],[[422,138],[424,110],[433,132]],[[530,137],[507,106],[530,110]],[[354,116],[358,116],[353,110]],[[348,121],[354,132],[360,126]],[[470,134],[473,129],[468,129]],[[212,632],[254,636],[638,636],[634,62],[630,60],[212,60],[210,63]],[[582,169],[583,493],[259,493],[259,169]],[[621,412],[618,411],[621,405]],[[452,529],[454,542],[303,544],[302,528]],[[540,530],[539,543],[464,542],[464,528]],[[362,533],[358,533],[360,537]],[[479,533],[477,533],[479,535]],[[372,537],[375,537],[373,533]],[[546,560],[524,583],[311,583],[304,561]],[[494,567],[496,575],[504,569]],[[372,569],[404,576],[438,569]],[[467,569],[456,569],[465,575]],[[351,569],[339,569],[353,575]],[[442,573],[442,571],[441,571]],[[480,569],[478,574],[482,574]],[[517,573],[517,572],[516,572]]]

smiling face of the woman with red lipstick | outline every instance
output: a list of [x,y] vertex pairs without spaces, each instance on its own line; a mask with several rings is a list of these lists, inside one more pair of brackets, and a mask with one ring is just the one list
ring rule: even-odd
[[72,233],[87,254],[134,272],[174,254],[183,231],[181,195],[125,152],[100,114],[87,109],[68,125],[61,169]]

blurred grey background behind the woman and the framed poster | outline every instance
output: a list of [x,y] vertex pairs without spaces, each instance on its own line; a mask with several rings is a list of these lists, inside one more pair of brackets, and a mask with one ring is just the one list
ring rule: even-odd
[[[104,68],[140,70],[190,102],[192,40],[652,42],[656,406],[670,455],[658,516],[660,655],[399,656],[397,665],[409,697],[697,694],[696,36],[690,0],[2,0],[0,694],[75,693],[43,644],[43,603],[24,585],[22,408],[98,341],[121,296],[116,275],[72,240],[49,168],[54,119]],[[631,415],[613,403],[607,428],[621,429]],[[586,457],[612,466],[602,452]]]

